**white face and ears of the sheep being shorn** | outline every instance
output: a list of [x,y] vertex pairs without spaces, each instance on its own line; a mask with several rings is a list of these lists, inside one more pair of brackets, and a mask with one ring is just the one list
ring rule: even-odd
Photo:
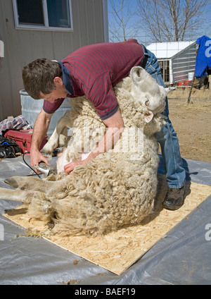
[[164,111],[165,98],[172,88],[158,85],[155,79],[141,66],[134,66],[130,71],[130,77],[132,79],[132,97],[134,101],[140,102],[141,106],[147,109],[144,117],[148,123],[155,114]]

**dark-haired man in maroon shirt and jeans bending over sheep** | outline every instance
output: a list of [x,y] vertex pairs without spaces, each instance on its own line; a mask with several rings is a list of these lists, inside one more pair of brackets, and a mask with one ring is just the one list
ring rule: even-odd
[[[34,99],[44,99],[44,106],[34,124],[31,145],[31,166],[49,161],[39,152],[41,141],[49,128],[51,116],[63,103],[65,97],[84,94],[94,104],[96,112],[108,130],[87,159],[66,164],[66,174],[77,165],[85,165],[101,152],[113,147],[116,136],[124,130],[124,123],[113,91],[120,80],[129,75],[133,66],[142,66],[164,86],[160,67],[155,55],[136,39],[126,42],[91,44],[77,49],[62,61],[37,59],[23,68],[25,90]],[[168,117],[166,98],[166,125],[157,133],[160,143],[168,191],[163,202],[166,209],[179,209],[184,204],[185,170],[179,152],[179,141]],[[115,128],[115,130],[114,130]]]

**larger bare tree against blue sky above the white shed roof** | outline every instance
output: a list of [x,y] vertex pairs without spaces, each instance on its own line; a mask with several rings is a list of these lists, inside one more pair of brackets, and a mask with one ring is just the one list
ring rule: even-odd
[[137,0],[140,30],[156,42],[178,42],[200,29],[207,0]]

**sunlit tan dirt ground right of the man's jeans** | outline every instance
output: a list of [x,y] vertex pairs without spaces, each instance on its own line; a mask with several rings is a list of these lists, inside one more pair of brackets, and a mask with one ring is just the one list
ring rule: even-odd
[[175,90],[168,97],[170,120],[179,138],[181,157],[211,162],[211,90]]

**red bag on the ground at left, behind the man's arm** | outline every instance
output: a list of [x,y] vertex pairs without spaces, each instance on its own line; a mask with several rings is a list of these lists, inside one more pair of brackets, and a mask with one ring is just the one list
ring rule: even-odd
[[[14,140],[17,145],[20,146],[23,153],[30,152],[30,147],[32,143],[32,133],[33,129],[29,130],[8,130],[4,134],[4,137]],[[47,142],[48,136],[44,138],[44,140],[41,142],[41,147],[39,150],[41,150],[44,145]]]

